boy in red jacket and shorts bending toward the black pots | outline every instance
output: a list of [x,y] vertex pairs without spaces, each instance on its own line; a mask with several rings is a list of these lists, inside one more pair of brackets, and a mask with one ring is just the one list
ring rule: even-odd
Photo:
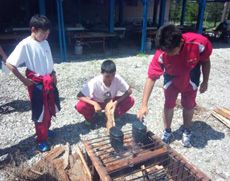
[[161,75],[164,75],[165,104],[163,120],[165,130],[162,140],[169,143],[172,139],[173,111],[177,96],[181,93],[184,121],[182,143],[185,147],[190,147],[192,117],[200,82],[200,66],[203,75],[200,93],[204,93],[208,88],[209,57],[212,53],[212,45],[207,38],[200,34],[182,34],[174,25],[166,25],[157,32],[156,47],[158,50],[149,65],[142,105],[137,117],[142,119],[148,113],[148,100],[154,84]]

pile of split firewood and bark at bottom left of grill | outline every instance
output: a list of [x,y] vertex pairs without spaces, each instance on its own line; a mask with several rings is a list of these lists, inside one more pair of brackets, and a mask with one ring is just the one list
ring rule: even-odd
[[90,181],[90,170],[80,148],[71,154],[70,146],[59,146],[49,151],[32,168],[26,170],[27,179]]

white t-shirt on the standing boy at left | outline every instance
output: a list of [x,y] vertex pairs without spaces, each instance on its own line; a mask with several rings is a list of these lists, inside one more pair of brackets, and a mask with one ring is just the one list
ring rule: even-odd
[[53,71],[53,58],[48,41],[38,42],[30,36],[16,46],[6,61],[15,67],[25,63],[38,76]]

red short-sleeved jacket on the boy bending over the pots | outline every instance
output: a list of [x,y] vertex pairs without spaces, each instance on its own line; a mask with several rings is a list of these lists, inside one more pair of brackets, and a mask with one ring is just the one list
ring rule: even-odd
[[[174,76],[173,85],[183,91],[189,85],[190,71],[200,62],[209,60],[212,53],[210,41],[196,33],[182,35],[184,44],[178,55],[169,56],[157,50],[148,69],[148,77],[158,79],[165,72]],[[200,53],[202,47],[204,51]]]

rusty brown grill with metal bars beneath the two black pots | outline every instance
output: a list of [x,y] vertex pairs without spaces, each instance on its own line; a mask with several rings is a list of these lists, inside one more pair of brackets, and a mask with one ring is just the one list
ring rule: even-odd
[[145,144],[135,143],[132,131],[124,132],[124,147],[115,151],[109,135],[83,141],[102,181],[116,180],[210,180],[200,170],[150,131]]

